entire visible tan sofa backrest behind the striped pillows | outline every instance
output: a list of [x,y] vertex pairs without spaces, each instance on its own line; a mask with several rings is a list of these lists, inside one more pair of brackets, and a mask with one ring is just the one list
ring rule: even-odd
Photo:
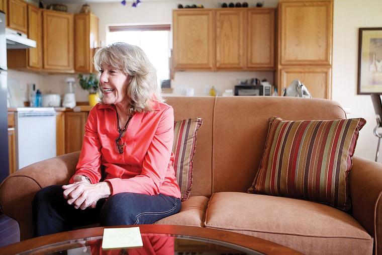
[[333,120],[346,118],[331,100],[294,97],[167,97],[175,121],[202,118],[193,159],[190,196],[246,192],[265,148],[268,119]]

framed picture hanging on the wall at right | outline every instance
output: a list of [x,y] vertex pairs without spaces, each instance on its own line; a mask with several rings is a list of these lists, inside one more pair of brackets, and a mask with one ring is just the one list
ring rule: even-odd
[[359,28],[359,95],[382,94],[382,28]]

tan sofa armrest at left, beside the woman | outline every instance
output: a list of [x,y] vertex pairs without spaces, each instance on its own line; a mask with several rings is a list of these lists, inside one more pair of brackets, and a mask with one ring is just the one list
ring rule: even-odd
[[0,185],[0,206],[20,226],[20,239],[33,237],[32,200],[49,185],[67,184],[75,172],[79,152],[49,158],[16,171]]

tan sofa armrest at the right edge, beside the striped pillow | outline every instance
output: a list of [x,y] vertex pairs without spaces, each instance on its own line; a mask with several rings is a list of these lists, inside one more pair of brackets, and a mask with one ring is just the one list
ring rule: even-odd
[[382,164],[354,156],[349,186],[351,214],[374,237],[374,253],[382,254]]

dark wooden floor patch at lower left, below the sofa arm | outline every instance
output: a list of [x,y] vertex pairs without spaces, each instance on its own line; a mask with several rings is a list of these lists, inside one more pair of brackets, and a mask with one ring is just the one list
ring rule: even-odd
[[19,241],[19,224],[0,211],[0,247]]

